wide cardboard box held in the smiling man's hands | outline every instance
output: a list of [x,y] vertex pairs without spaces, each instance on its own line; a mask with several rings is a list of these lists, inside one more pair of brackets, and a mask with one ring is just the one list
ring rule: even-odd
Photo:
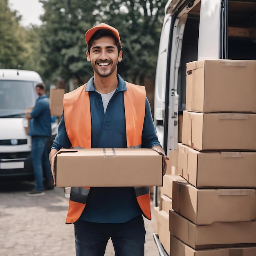
[[162,161],[152,148],[61,149],[56,187],[162,186]]

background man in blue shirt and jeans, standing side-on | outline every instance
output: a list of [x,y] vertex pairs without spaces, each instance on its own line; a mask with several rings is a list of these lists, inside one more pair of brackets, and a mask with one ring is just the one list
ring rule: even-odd
[[45,189],[54,189],[51,165],[48,158],[47,141],[52,135],[51,114],[49,109],[49,99],[45,95],[45,84],[36,85],[38,99],[30,113],[26,112],[29,119],[29,132],[31,135],[31,160],[34,168],[35,187],[27,195],[44,195],[43,173],[45,173]]

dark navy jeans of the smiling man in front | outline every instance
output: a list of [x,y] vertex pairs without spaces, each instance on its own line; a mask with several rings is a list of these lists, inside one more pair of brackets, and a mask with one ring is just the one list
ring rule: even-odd
[[103,256],[109,238],[115,256],[144,256],[146,230],[141,215],[120,224],[77,220],[74,228],[76,256]]

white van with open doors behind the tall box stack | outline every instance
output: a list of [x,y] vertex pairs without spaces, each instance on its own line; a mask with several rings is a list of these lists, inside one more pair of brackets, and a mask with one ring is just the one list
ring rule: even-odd
[[[166,155],[181,142],[178,119],[185,110],[186,63],[207,59],[256,60],[256,0],[166,3],[154,100],[155,126]],[[157,202],[156,187],[155,206]],[[167,255],[157,234],[154,238],[159,254]]]

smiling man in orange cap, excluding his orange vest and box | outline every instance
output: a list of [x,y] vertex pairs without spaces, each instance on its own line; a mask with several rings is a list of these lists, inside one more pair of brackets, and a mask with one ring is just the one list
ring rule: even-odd
[[[127,148],[127,105],[124,102],[127,86],[117,74],[117,63],[121,61],[123,54],[119,33],[109,25],[100,24],[85,34],[85,40],[88,45],[87,60],[91,62],[94,70],[94,76],[88,81],[84,91],[90,96],[90,147]],[[157,139],[148,99],[144,102],[145,116],[140,146],[155,148],[165,155]],[[134,108],[136,109],[136,106]],[[79,113],[73,114],[76,115],[76,120],[83,119]],[[72,130],[67,132],[66,126],[70,121],[66,118],[64,106],[58,132],[49,154],[52,169],[54,155],[58,150],[74,146],[71,137],[67,135]],[[81,134],[78,136],[85,136],[83,128],[79,128],[79,131]],[[165,173],[166,162],[163,164]],[[79,191],[78,188],[74,189]],[[103,256],[110,238],[116,256],[144,256],[146,231],[142,214],[134,187],[90,188],[85,208],[79,219],[74,222],[76,256]]]

